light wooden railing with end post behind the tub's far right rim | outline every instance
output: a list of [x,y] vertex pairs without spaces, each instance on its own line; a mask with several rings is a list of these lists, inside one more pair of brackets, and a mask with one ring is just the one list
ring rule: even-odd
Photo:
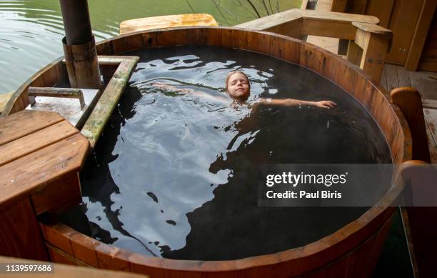
[[351,41],[347,59],[375,81],[381,79],[391,31],[378,26],[375,16],[333,11],[291,9],[236,27],[271,31],[301,39],[305,35],[327,36]]

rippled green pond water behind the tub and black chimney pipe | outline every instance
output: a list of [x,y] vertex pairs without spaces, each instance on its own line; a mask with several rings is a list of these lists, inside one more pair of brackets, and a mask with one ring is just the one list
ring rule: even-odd
[[[258,13],[293,9],[301,0],[251,0]],[[206,13],[233,26],[256,19],[248,0],[89,0],[97,41],[119,34],[126,19]],[[64,36],[58,0],[0,0],[0,94],[16,90],[41,67],[61,56]]]

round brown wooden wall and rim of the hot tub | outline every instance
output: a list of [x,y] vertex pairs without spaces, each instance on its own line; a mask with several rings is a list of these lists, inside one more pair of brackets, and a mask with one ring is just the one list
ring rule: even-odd
[[[297,39],[263,31],[220,27],[141,31],[101,41],[99,55],[176,45],[212,45],[246,49],[311,69],[354,96],[373,115],[391,149],[393,164],[411,159],[411,136],[401,112],[388,94],[357,66],[340,56]],[[61,59],[41,69],[16,91],[5,114],[24,109],[29,86],[54,86],[66,77]],[[40,222],[54,262],[149,274],[151,277],[368,277],[373,272],[391,227],[401,184],[393,185],[378,203],[356,221],[303,247],[276,254],[228,261],[160,259],[111,247],[60,222]],[[50,218],[50,217],[49,217]]]

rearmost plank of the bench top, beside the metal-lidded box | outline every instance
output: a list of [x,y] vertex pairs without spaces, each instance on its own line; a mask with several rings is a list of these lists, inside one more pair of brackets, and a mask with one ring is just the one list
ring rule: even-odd
[[64,119],[54,112],[20,111],[0,118],[0,145],[19,139]]

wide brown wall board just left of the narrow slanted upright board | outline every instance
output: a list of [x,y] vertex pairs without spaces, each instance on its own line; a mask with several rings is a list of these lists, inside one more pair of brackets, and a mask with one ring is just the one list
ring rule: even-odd
[[394,64],[404,64],[413,38],[423,0],[399,0],[393,8],[388,29],[393,31],[391,51],[386,60]]

